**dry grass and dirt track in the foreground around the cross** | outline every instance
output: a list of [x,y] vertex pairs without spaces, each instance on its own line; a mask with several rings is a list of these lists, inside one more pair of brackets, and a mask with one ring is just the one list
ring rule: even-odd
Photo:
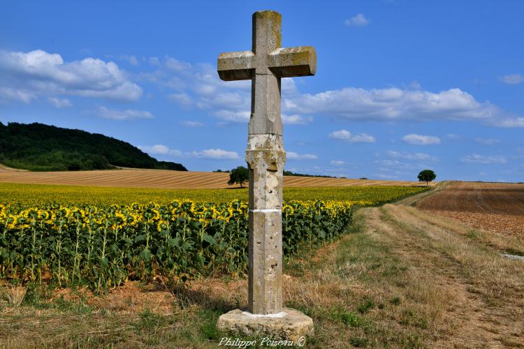
[[[313,318],[310,348],[518,348],[524,263],[500,251],[521,246],[406,205],[360,209],[348,235],[286,261],[284,299]],[[4,346],[216,348],[217,317],[247,304],[247,283],[36,295],[0,312]]]

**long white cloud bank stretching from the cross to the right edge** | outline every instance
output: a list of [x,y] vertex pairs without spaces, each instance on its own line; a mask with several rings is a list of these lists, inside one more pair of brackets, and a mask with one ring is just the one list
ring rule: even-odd
[[500,127],[524,126],[524,117],[505,112],[489,102],[476,101],[460,89],[439,93],[398,89],[344,89],[284,98],[284,111],[297,114],[330,114],[363,121],[483,121]]

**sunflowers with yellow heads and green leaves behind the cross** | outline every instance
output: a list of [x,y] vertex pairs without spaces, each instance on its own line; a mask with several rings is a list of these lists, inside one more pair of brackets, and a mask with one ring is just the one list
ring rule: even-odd
[[[336,189],[343,197],[343,190]],[[390,195],[375,200],[286,201],[284,255],[303,244],[333,241],[351,224],[356,205],[379,205],[421,190],[389,188]],[[333,188],[329,192],[336,196]],[[125,205],[61,201],[0,196],[0,279],[105,290],[128,279],[186,282],[198,275],[247,272],[249,210],[243,200]]]

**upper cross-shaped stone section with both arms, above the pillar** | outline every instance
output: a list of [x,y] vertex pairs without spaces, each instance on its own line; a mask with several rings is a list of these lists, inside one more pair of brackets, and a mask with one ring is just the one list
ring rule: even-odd
[[248,133],[282,135],[280,78],[314,75],[316,52],[311,46],[282,48],[282,16],[275,11],[253,14],[252,51],[219,54],[222,80],[252,79]]

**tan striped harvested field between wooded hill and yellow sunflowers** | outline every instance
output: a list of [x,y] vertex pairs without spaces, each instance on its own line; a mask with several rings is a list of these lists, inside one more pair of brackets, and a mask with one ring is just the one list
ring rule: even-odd
[[[228,186],[224,172],[182,172],[170,170],[96,170],[75,172],[29,172],[0,167],[0,182],[112,186],[124,188],[219,189]],[[373,181],[323,177],[284,177],[284,186],[419,186],[418,181]]]

